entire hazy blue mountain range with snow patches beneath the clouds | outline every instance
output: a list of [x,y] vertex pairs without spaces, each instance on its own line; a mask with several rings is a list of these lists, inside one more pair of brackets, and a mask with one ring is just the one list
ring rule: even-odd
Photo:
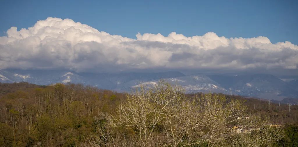
[[129,92],[145,84],[154,86],[159,80],[181,85],[187,93],[216,92],[274,100],[298,98],[298,82],[285,82],[273,75],[184,75],[181,72],[160,73],[74,73],[69,71],[0,70],[1,83],[29,82],[38,85],[82,83],[101,89]]

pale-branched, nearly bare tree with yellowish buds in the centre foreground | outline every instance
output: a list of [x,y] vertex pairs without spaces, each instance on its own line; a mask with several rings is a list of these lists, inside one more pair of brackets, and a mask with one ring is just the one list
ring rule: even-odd
[[[101,133],[104,146],[118,143],[122,146],[263,146],[282,138],[282,128],[271,128],[268,121],[258,116],[247,116],[246,107],[237,99],[227,100],[224,95],[203,94],[189,99],[181,86],[159,82],[154,88],[142,86],[127,95],[108,118],[112,128],[131,130],[132,135],[119,137],[119,133]],[[235,134],[230,124],[253,128],[252,133]],[[112,131],[113,132],[113,131]],[[107,135],[108,133],[109,135]],[[134,135],[136,134],[136,135]],[[122,134],[123,135],[123,134]],[[205,136],[203,139],[202,137]]]

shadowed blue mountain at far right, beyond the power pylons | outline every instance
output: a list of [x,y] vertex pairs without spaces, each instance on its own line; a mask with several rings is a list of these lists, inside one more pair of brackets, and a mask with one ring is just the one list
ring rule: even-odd
[[298,95],[293,86],[273,75],[210,75],[209,77],[238,95],[276,100]]

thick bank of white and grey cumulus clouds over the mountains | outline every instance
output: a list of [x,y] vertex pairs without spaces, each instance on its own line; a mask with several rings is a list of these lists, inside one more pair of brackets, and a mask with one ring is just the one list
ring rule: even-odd
[[266,37],[110,35],[72,19],[46,18],[0,37],[0,68],[119,72],[142,69],[255,70],[298,68],[298,46]]

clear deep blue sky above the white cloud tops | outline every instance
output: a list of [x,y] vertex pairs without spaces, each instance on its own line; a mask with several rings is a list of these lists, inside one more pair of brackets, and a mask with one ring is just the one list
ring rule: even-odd
[[47,17],[70,18],[110,34],[266,36],[298,44],[298,1],[1,1],[0,36]]

